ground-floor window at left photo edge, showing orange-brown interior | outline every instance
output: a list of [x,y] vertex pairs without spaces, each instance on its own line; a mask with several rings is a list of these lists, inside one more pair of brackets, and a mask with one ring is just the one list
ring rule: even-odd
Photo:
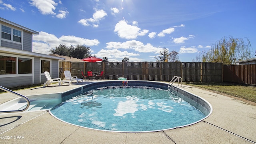
[[16,74],[16,57],[0,56],[0,74]]

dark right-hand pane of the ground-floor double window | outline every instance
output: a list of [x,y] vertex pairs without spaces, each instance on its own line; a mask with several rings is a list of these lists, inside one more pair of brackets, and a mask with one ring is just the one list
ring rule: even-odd
[[19,61],[19,74],[32,74],[32,59],[18,58]]

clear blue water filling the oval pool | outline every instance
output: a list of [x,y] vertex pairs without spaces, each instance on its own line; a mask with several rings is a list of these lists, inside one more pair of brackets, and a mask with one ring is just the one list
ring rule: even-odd
[[118,132],[165,130],[205,117],[176,94],[145,86],[90,90],[62,102],[51,113],[78,126]]

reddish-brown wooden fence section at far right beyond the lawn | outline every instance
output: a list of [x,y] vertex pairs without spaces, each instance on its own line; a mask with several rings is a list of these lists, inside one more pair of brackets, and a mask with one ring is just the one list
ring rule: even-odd
[[224,65],[223,81],[256,84],[256,64]]

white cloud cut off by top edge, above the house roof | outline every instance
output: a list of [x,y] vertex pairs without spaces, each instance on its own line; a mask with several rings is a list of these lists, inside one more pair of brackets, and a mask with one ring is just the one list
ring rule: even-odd
[[36,8],[38,8],[41,14],[56,14],[54,10],[56,9],[55,6],[57,6],[58,3],[55,3],[54,0],[30,0],[29,3],[32,6],[36,6]]

